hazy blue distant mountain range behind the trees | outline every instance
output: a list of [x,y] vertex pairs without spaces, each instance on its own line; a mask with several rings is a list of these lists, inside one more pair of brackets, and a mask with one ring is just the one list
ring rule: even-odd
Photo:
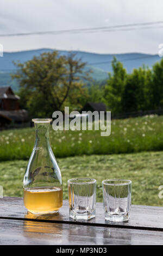
[[[26,62],[34,56],[39,56],[43,52],[52,52],[52,49],[42,48],[38,50],[21,51],[21,52],[4,52],[3,57],[0,57],[0,87],[11,86],[16,90],[16,81],[11,81],[10,73],[16,71],[13,62]],[[68,51],[58,51],[60,55],[67,55]],[[99,81],[108,77],[108,71],[111,72],[111,60],[115,56],[120,60],[128,72],[134,68],[139,68],[143,64],[152,67],[152,65],[160,61],[158,55],[143,54],[143,53],[123,53],[123,54],[98,54],[82,51],[72,51],[77,54],[78,58],[82,58],[83,62],[87,62],[87,69],[92,69],[92,78]]]

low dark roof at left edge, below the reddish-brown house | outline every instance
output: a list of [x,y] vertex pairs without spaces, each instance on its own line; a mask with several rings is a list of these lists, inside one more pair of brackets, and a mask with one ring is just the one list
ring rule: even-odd
[[29,115],[28,115],[28,111],[25,109],[13,110],[13,111],[2,110],[0,111],[0,117],[6,118],[10,121],[24,122],[24,121],[28,121]]

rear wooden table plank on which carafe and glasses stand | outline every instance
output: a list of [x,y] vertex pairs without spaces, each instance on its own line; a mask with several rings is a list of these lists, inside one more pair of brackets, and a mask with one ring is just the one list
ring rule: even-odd
[[27,213],[23,206],[22,198],[0,199],[0,218],[28,219],[43,222],[60,222],[82,225],[100,225],[105,227],[121,227],[134,229],[147,229],[163,231],[163,208],[154,206],[133,205],[131,208],[131,217],[128,223],[109,223],[104,220],[103,204],[97,203],[96,218],[89,221],[73,221],[69,217],[68,202],[64,201],[64,206],[60,209],[58,215],[35,216]]

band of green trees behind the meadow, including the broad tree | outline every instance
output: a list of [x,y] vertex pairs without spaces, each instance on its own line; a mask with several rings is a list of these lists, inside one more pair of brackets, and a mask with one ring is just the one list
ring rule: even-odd
[[105,103],[112,113],[163,108],[163,59],[152,69],[142,66],[128,74],[114,57],[112,72],[103,82],[92,81],[92,70],[75,54],[42,53],[15,65],[12,78],[19,84],[21,107],[37,117],[51,116],[65,106],[79,111],[89,101]]

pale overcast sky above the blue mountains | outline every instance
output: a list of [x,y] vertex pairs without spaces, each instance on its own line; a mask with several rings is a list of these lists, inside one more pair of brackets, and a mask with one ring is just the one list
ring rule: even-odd
[[[162,0],[0,0],[0,34],[163,20]],[[162,28],[110,33],[0,37],[4,51],[36,48],[97,53],[158,53]]]

